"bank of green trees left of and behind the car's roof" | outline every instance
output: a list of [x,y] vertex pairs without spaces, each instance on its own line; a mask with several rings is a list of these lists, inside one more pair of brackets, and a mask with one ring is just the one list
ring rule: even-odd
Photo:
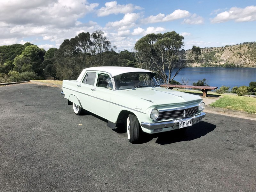
[[0,83],[44,79],[75,79],[93,66],[135,67],[134,52],[115,51],[102,31],[65,39],[60,48],[45,51],[31,43],[0,46]]

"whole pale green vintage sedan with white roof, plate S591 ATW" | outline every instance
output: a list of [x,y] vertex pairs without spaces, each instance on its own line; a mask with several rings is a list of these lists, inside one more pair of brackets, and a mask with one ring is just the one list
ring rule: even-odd
[[61,94],[76,115],[90,111],[107,119],[112,129],[124,123],[131,143],[141,131],[185,129],[205,117],[200,96],[160,87],[155,75],[140,68],[86,68],[77,80],[63,81]]

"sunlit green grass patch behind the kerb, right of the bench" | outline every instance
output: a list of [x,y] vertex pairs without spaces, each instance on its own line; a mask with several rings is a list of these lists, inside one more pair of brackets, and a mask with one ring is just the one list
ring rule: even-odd
[[256,114],[256,98],[235,95],[222,95],[223,97],[211,103],[211,107],[227,108]]

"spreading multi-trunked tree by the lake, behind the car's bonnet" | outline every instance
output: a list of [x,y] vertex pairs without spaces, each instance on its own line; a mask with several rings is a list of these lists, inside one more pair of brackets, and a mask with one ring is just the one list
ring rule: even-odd
[[[193,46],[192,51],[185,54],[181,50],[184,46],[184,37],[175,31],[164,34],[148,34],[139,39],[135,44],[135,53],[138,66],[144,69],[154,70],[169,84],[180,70],[189,63],[198,59],[200,48]],[[174,68],[177,72],[172,76]],[[166,75],[167,73],[167,75]]]

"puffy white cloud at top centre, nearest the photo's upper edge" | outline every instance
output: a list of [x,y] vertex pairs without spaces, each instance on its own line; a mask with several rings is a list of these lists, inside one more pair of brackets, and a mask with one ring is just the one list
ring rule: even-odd
[[126,14],[126,13],[131,13],[136,9],[140,10],[142,8],[140,6],[134,6],[132,4],[120,5],[120,4],[117,4],[116,1],[111,1],[111,2],[105,3],[105,7],[101,7],[97,11],[97,15],[99,17],[103,17],[110,14],[116,14],[116,15],[119,13]]

